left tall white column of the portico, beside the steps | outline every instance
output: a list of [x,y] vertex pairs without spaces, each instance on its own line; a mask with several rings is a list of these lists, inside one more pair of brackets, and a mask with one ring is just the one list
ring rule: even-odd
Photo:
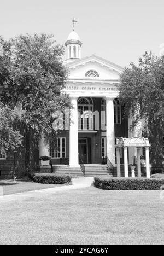
[[78,149],[78,97],[70,97],[73,109],[71,109],[71,122],[69,131],[69,167],[79,167]]

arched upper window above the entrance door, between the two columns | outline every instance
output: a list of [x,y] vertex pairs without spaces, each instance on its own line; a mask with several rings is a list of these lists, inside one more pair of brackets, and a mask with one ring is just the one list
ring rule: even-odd
[[79,130],[93,130],[93,101],[92,98],[79,98],[78,100]]

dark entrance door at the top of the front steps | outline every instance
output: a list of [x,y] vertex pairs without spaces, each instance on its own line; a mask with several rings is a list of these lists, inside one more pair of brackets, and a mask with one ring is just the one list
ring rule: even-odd
[[88,141],[87,138],[79,139],[79,161],[88,164]]

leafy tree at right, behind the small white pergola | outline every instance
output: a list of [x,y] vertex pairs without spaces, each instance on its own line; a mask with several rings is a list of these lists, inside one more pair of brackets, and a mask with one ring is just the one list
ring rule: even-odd
[[130,64],[120,75],[120,99],[125,115],[132,115],[133,125],[144,120],[144,135],[151,142],[154,163],[163,158],[164,135],[164,59],[145,53],[138,65]]

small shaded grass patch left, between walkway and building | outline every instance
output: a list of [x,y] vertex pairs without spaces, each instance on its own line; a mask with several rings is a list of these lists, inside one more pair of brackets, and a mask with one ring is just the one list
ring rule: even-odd
[[12,180],[0,180],[0,189],[3,189],[3,195],[16,194],[21,192],[46,189],[46,188],[54,188],[62,185],[55,184],[40,184],[35,182],[30,182],[28,180],[19,179],[16,183],[13,183]]

